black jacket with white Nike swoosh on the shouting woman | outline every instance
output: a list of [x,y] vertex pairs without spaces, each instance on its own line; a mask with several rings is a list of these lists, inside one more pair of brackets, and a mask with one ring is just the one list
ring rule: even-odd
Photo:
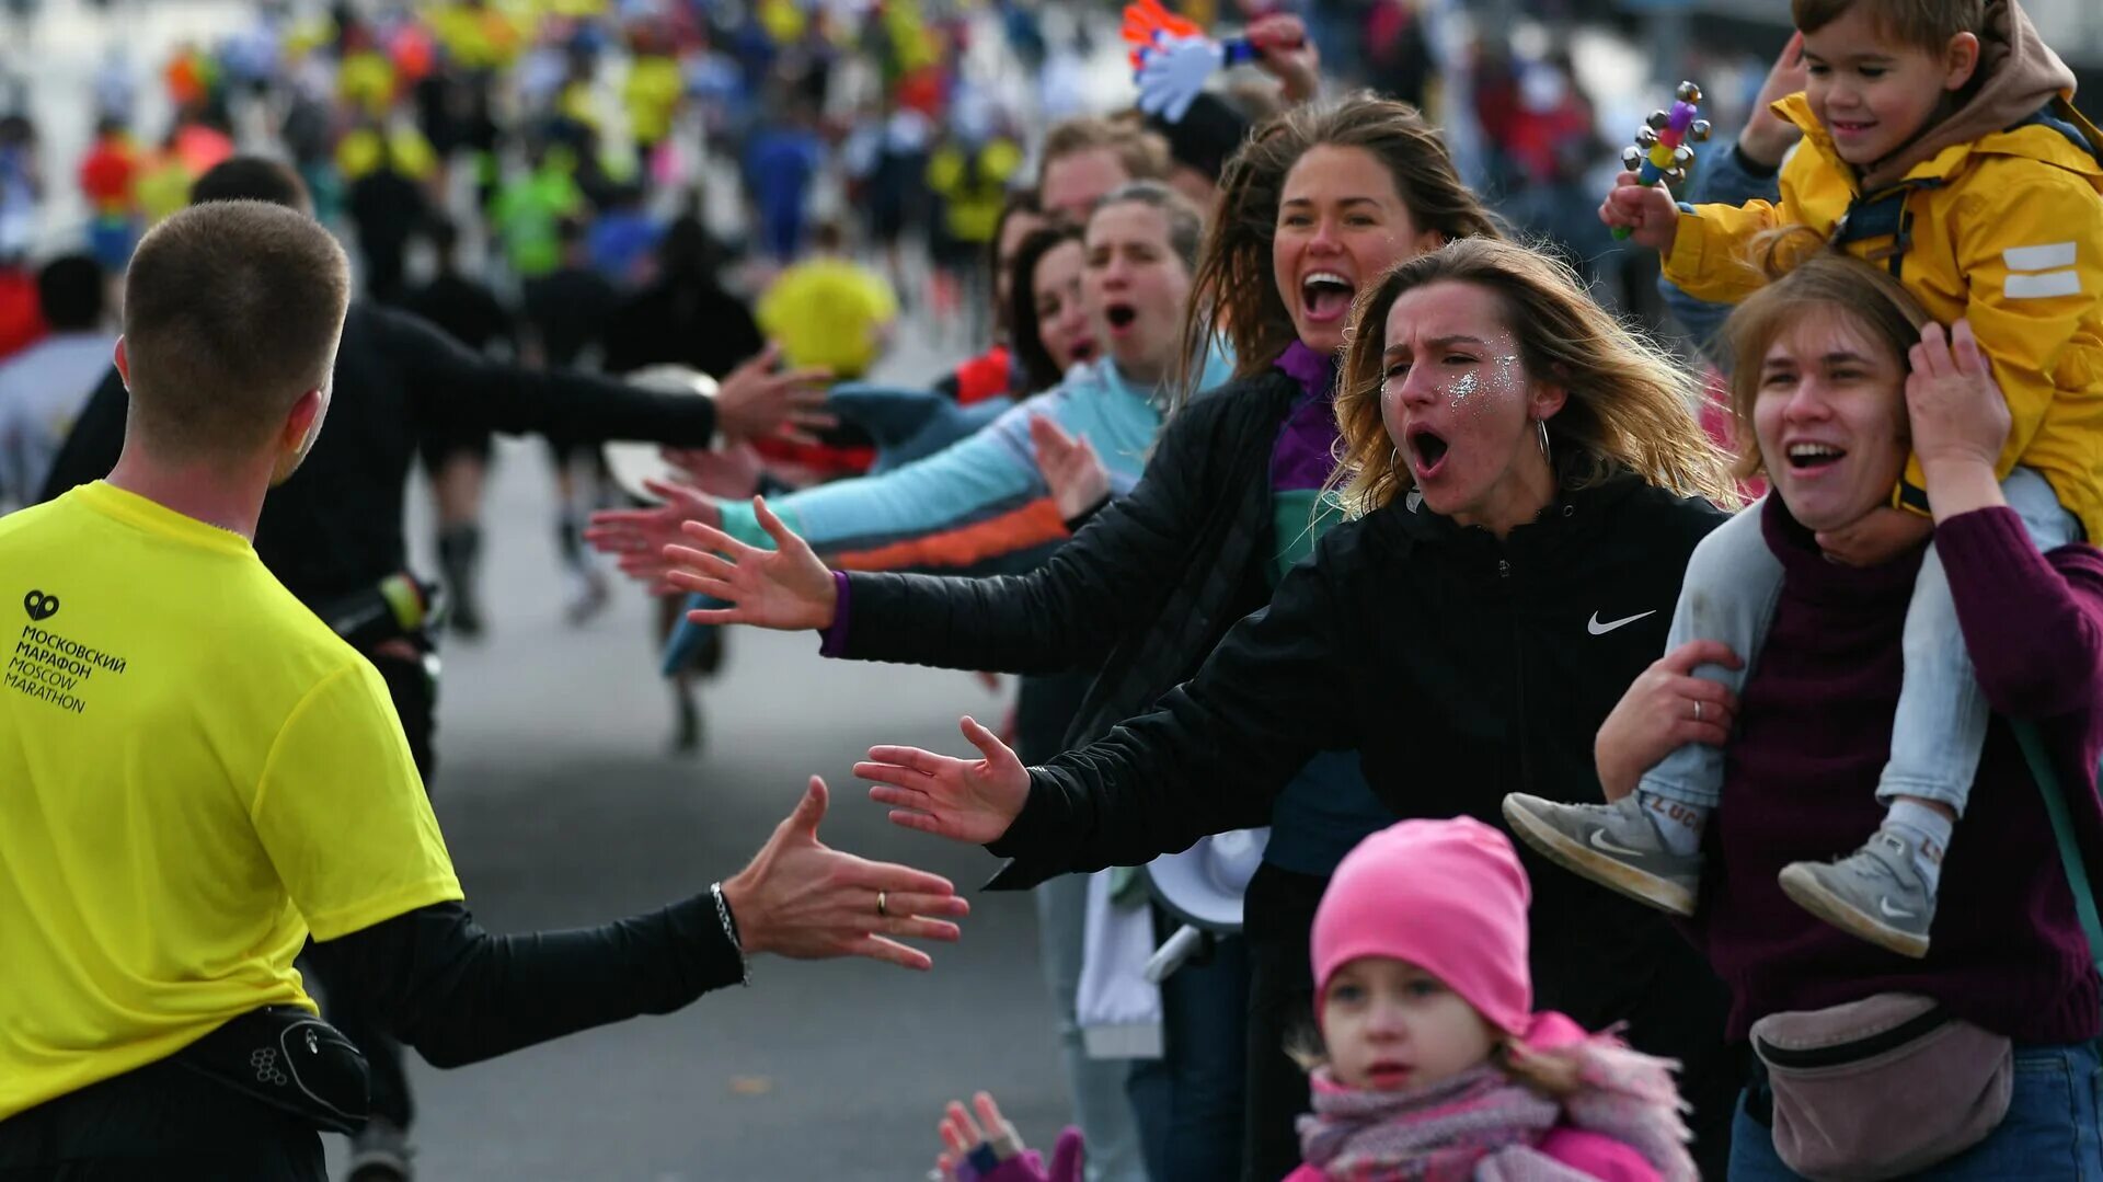
[[[1592,738],[1663,652],[1687,557],[1718,522],[1619,475],[1502,543],[1403,503],[1338,526],[1152,713],[1033,768],[1028,806],[991,850],[1020,881],[1146,862],[1264,824],[1319,749],[1356,749],[1396,816],[1502,827],[1510,791],[1598,801]],[[1588,1028],[1638,1018],[1642,1041],[1661,980],[1714,989],[1663,915],[1520,856],[1535,1005]],[[1720,1045],[1714,1001],[1703,1037]]]

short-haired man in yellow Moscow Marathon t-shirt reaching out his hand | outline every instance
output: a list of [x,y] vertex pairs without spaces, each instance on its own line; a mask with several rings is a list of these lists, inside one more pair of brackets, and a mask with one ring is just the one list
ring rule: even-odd
[[322,1180],[315,1129],[364,1119],[364,1075],[292,970],[309,936],[452,1066],[677,1010],[751,953],[925,967],[890,936],[957,934],[944,879],[818,843],[816,778],[683,902],[475,925],[379,673],[250,545],[322,429],[347,301],[294,210],[175,215],[126,276],[122,458],[0,519],[0,1180]]

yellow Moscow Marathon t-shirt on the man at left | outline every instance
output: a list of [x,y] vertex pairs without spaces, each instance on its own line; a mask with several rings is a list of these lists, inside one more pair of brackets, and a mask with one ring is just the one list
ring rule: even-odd
[[0,1119],[461,898],[379,671],[238,534],[90,484],[0,517]]

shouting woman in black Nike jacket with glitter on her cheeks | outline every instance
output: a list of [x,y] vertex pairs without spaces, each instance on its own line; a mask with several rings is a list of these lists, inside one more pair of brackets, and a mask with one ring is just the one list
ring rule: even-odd
[[[1508,789],[1600,799],[1598,724],[1663,646],[1687,557],[1722,519],[1708,501],[1733,498],[1687,376],[1567,269],[1489,240],[1403,263],[1352,324],[1338,421],[1356,519],[1089,747],[1022,768],[967,721],[982,759],[871,749],[856,774],[896,822],[986,843],[1024,877],[1134,864],[1262,824],[1325,749],[1356,749],[1398,816],[1502,824]],[[978,610],[969,589],[948,599]],[[1737,1071],[1714,978],[1642,906],[1527,871],[1535,1003],[1626,1020],[1678,1058],[1697,1150],[1720,1161]]]

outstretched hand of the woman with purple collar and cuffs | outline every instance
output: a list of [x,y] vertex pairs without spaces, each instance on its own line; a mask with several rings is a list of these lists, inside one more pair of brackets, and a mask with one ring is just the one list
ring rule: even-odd
[[686,522],[681,530],[707,551],[665,547],[665,559],[671,564],[665,583],[730,604],[694,610],[686,618],[696,625],[757,625],[780,631],[833,627],[833,616],[839,612],[833,572],[818,562],[810,543],[768,509],[765,496],[753,496],[753,513],[759,517],[759,528],[774,538],[772,551],[744,545],[702,522]]

